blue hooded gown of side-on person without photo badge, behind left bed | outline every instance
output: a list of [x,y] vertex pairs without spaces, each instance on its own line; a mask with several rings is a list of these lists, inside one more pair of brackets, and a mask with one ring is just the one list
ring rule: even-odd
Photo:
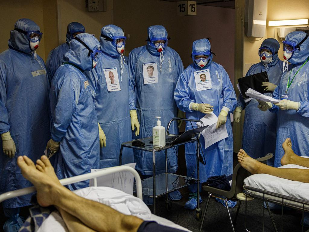
[[[90,49],[99,41],[90,34],[77,35]],[[50,91],[51,138],[60,141],[55,156],[59,179],[89,173],[99,168],[99,129],[91,88],[83,70],[90,71],[92,58],[77,40],[70,42],[64,62],[56,71]],[[89,186],[89,180],[69,185],[71,190]]]

